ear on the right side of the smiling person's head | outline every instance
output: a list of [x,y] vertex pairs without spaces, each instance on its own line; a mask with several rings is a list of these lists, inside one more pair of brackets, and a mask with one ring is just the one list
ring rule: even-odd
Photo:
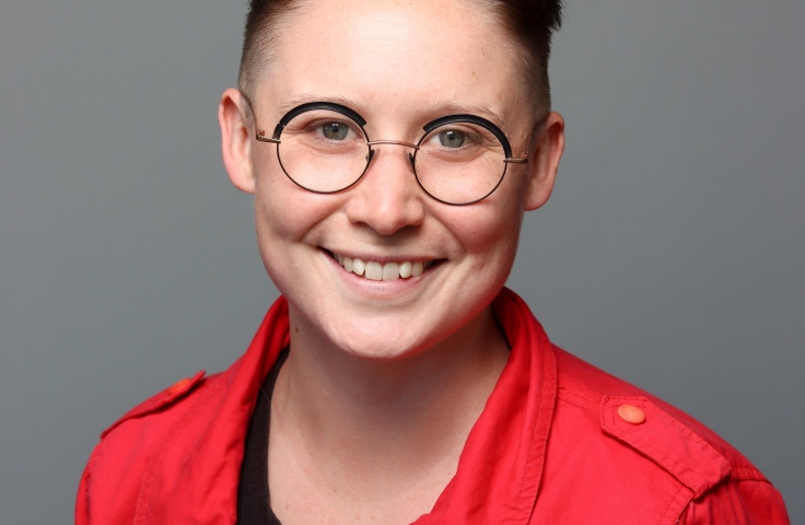
[[548,201],[564,152],[564,118],[551,112],[537,136],[528,163],[528,194],[525,209],[536,210]]

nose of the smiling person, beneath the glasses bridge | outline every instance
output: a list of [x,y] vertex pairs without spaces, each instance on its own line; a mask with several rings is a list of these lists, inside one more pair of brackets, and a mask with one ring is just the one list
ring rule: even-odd
[[[377,148],[376,145],[381,145]],[[382,235],[416,226],[424,219],[423,192],[410,161],[413,144],[376,141],[366,172],[350,190],[347,217]]]

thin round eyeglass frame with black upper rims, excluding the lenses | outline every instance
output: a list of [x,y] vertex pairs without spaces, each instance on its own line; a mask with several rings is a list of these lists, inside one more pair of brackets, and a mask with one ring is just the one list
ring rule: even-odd
[[[375,144],[396,144],[396,145],[402,145],[402,147],[412,149],[413,153],[412,154],[408,153],[408,159],[409,159],[409,162],[411,163],[411,170],[413,171],[413,178],[417,179],[417,184],[422,189],[422,191],[424,191],[425,195],[428,195],[430,198],[439,202],[450,205],[450,206],[469,206],[469,205],[475,205],[476,202],[480,202],[481,200],[492,195],[498,189],[498,187],[500,187],[500,185],[503,183],[503,178],[505,178],[505,175],[509,168],[509,164],[528,163],[527,152],[525,153],[525,156],[522,156],[522,158],[512,156],[512,145],[509,142],[509,138],[505,136],[505,133],[498,126],[495,126],[494,122],[483,117],[479,117],[478,115],[454,114],[454,115],[446,115],[444,117],[439,117],[434,120],[431,120],[430,122],[425,124],[422,127],[422,129],[424,130],[424,133],[422,135],[422,137],[419,138],[419,140],[415,144],[411,142],[405,142],[405,141],[399,141],[399,140],[371,140],[369,138],[369,133],[366,132],[366,129],[364,128],[364,126],[366,125],[366,119],[364,119],[361,115],[359,115],[358,112],[345,105],[335,103],[335,102],[326,102],[326,101],[307,102],[307,103],[300,104],[299,106],[295,106],[289,109],[277,122],[277,126],[273,128],[273,133],[271,135],[271,137],[268,137],[266,135],[265,129],[260,129],[257,126],[257,116],[252,106],[252,102],[248,100],[248,97],[245,94],[242,94],[242,95],[243,95],[243,98],[246,101],[246,104],[248,105],[249,110],[252,112],[252,115],[254,117],[255,140],[257,140],[258,142],[268,142],[268,143],[277,144],[277,160],[280,163],[280,167],[282,167],[282,173],[284,173],[285,176],[293,184],[313,194],[319,194],[319,195],[339,194],[341,191],[346,191],[350,189],[351,187],[355,186],[359,182],[361,182],[363,176],[366,174],[366,171],[369,171],[369,166],[372,164],[372,160],[374,159],[374,155],[375,155],[375,150],[372,148],[372,145],[375,145]],[[293,120],[295,117],[298,117],[299,115],[303,113],[315,110],[315,109],[327,109],[327,110],[339,113],[346,116],[347,118],[352,120],[354,124],[357,124],[361,128],[361,132],[363,133],[363,137],[366,139],[366,148],[369,149],[369,153],[366,155],[366,165],[364,166],[363,172],[361,172],[358,178],[355,178],[354,182],[352,182],[348,186],[345,186],[343,188],[334,189],[329,191],[308,188],[306,186],[301,185],[299,182],[294,180],[291,174],[288,173],[288,170],[285,170],[285,166],[282,164],[282,156],[280,155],[280,148],[279,148],[279,145],[282,143],[280,139],[282,131],[284,130],[285,126],[288,126],[288,124],[291,120]],[[534,129],[537,129],[544,121],[545,119],[541,119],[539,122],[537,122]],[[495,183],[494,187],[490,189],[485,196],[478,199],[471,200],[469,202],[450,202],[447,200],[440,199],[439,197],[428,191],[428,189],[422,185],[422,182],[419,179],[419,175],[417,174],[417,152],[419,152],[422,140],[424,140],[425,137],[428,137],[431,133],[431,131],[433,131],[434,129],[452,124],[452,122],[467,122],[467,124],[475,124],[477,126],[481,126],[482,128],[486,128],[488,131],[494,135],[494,137],[498,139],[498,141],[503,147],[503,155],[504,155],[503,173],[501,173],[500,178]]]

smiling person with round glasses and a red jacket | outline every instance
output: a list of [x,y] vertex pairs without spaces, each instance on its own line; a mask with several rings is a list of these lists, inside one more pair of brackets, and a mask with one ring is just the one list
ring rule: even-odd
[[745,457],[504,288],[564,148],[557,0],[253,0],[219,120],[282,296],[102,435],[78,524],[785,524]]

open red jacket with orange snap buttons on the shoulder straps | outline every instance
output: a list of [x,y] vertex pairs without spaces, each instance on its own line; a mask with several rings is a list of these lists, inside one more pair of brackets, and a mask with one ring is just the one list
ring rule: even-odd
[[[789,524],[782,498],[690,417],[552,346],[525,303],[493,303],[509,363],[431,524]],[[199,372],[102,434],[75,523],[234,524],[259,385],[289,345],[278,300],[229,370]]]

